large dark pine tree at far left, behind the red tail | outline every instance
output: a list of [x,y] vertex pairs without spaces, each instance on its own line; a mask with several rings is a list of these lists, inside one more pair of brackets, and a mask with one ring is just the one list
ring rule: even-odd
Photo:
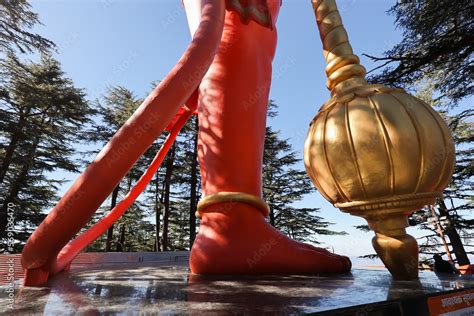
[[78,171],[74,144],[93,111],[50,55],[38,63],[9,55],[0,74],[0,232],[13,203],[19,250],[57,199],[63,181],[51,173]]

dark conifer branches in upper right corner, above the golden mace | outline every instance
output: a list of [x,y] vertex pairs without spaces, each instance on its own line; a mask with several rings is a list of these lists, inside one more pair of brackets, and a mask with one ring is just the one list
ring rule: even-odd
[[470,0],[397,1],[389,13],[395,16],[403,39],[384,57],[382,71],[371,81],[412,88],[433,79],[439,98],[452,103],[472,95],[474,5]]

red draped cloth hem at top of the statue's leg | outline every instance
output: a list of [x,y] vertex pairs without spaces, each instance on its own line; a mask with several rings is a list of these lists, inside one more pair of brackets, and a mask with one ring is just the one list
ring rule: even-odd
[[[268,9],[268,0],[226,0],[226,9],[239,13],[240,20],[248,24],[250,20],[273,29],[273,20]],[[281,4],[281,2],[280,2]]]

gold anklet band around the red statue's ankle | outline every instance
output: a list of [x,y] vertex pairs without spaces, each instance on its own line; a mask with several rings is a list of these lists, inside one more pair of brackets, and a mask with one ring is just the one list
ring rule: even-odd
[[208,195],[199,201],[196,216],[201,217],[200,213],[205,213],[204,209],[213,204],[229,202],[239,202],[251,205],[262,212],[265,217],[270,214],[268,204],[258,196],[243,192],[218,192]]

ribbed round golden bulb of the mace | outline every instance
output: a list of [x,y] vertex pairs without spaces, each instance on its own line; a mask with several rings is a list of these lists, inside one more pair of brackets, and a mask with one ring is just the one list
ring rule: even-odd
[[[305,164],[332,203],[441,194],[454,167],[446,123],[400,89],[365,86],[323,107],[305,143]],[[436,194],[434,194],[436,196]]]

